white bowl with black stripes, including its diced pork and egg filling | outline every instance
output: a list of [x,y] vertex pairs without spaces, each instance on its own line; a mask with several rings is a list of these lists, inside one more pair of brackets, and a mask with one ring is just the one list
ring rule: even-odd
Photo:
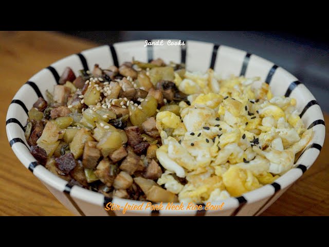
[[195,41],[71,55],[7,114],[19,160],[77,215],[259,215],[313,164],[324,133],[286,70]]

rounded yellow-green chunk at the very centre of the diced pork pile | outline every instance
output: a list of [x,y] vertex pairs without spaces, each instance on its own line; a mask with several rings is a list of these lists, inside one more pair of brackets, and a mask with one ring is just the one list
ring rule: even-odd
[[122,145],[121,135],[117,131],[107,132],[100,139],[97,148],[101,150],[104,157],[120,148]]

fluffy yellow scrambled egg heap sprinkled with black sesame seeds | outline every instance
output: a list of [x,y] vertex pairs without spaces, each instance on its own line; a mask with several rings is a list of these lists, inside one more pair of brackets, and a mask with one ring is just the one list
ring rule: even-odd
[[190,105],[179,102],[180,117],[157,114],[163,145],[156,156],[166,169],[157,183],[178,194],[179,201],[220,201],[272,183],[294,166],[296,153],[312,139],[296,100],[274,96],[266,83],[255,87],[259,80],[222,80],[212,69],[175,74]]

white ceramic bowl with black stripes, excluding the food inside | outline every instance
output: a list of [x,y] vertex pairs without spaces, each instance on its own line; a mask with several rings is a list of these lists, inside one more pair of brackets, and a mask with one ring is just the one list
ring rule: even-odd
[[10,146],[23,165],[39,178],[53,195],[76,215],[112,216],[123,215],[122,211],[106,211],[104,205],[113,202],[124,206],[126,203],[140,205],[142,202],[119,198],[105,198],[101,193],[93,192],[79,186],[72,186],[65,180],[52,174],[36,162],[29,152],[24,137],[27,112],[45,91],[52,91],[59,81],[59,75],[66,66],[70,66],[76,75],[78,70],[92,69],[95,63],[100,67],[117,65],[131,61],[134,57],[140,61],[162,58],[165,62],[186,63],[191,71],[206,72],[211,67],[215,72],[228,77],[245,75],[260,76],[261,81],[269,83],[274,95],[285,95],[297,99],[297,109],[307,128],[313,128],[314,136],[310,144],[296,159],[293,169],[286,172],[274,183],[247,192],[241,197],[224,201],[223,210],[133,210],[124,215],[214,215],[214,216],[253,216],[261,214],[269,205],[293,184],[316,160],[322,148],[325,136],[323,115],[318,102],[296,77],[283,68],[246,51],[219,46],[212,43],[187,41],[184,46],[170,46],[167,41],[163,46],[144,47],[145,41],[116,43],[113,46],[100,46],[82,51],[61,59],[26,82],[14,96],[7,113],[7,136]]

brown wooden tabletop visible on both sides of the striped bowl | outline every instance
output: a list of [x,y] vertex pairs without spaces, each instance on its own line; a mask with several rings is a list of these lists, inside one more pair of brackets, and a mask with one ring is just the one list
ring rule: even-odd
[[[15,92],[52,62],[97,44],[56,32],[0,32],[0,216],[72,216],[12,152],[5,131]],[[325,115],[329,122],[329,115]],[[329,130],[315,164],[263,216],[329,215]]]

